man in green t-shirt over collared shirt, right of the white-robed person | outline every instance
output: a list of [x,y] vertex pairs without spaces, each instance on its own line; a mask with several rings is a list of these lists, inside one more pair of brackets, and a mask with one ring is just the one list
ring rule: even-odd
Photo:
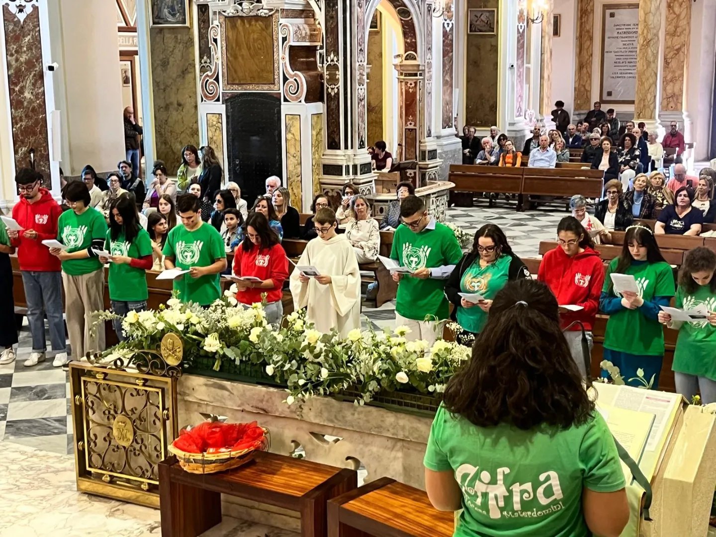
[[402,200],[400,217],[402,226],[395,230],[390,257],[412,273],[392,275],[398,282],[395,323],[410,329],[407,339],[425,339],[432,346],[448,319],[445,280],[463,251],[455,233],[428,216],[425,203],[417,196]]

